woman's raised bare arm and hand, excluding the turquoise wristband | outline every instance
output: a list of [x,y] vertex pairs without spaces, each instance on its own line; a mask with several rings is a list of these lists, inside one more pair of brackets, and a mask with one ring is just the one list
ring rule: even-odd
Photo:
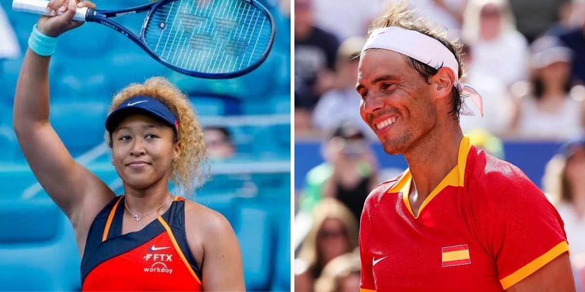
[[[76,4],[75,0],[52,0],[49,4],[54,9],[63,5],[67,7],[63,15],[39,19],[39,32],[57,37],[81,25],[72,20],[76,5],[95,6],[90,2]],[[27,49],[16,85],[13,124],[36,178],[70,218],[77,235],[81,235],[78,227],[87,232],[95,215],[114,194],[97,176],[74,161],[49,123],[49,61],[50,56]],[[82,235],[80,238],[84,239]]]

